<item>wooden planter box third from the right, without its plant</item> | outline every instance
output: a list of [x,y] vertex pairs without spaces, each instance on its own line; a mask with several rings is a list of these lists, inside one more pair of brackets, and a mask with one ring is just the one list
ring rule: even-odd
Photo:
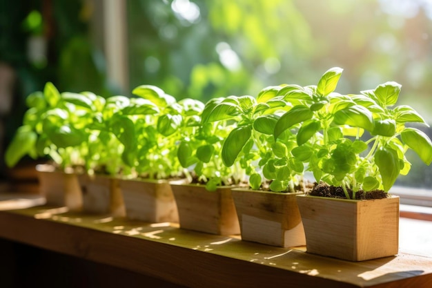
[[240,233],[231,187],[207,191],[197,184],[171,183],[182,229],[218,235]]

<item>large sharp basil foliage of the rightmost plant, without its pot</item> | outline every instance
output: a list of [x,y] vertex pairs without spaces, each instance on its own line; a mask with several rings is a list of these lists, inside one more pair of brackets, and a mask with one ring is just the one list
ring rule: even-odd
[[342,186],[349,199],[360,189],[389,191],[399,175],[409,173],[407,149],[431,164],[429,137],[406,127],[409,122],[427,125],[424,119],[410,106],[395,106],[400,84],[386,82],[358,95],[340,95],[334,90],[341,75],[341,68],[331,68],[317,86],[287,93],[285,101],[300,104],[275,125],[275,138],[300,125],[292,154],[308,165],[317,182]]

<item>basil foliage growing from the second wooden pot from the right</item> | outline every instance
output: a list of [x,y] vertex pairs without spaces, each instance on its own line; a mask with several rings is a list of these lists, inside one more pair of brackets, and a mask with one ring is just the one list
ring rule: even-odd
[[304,163],[291,155],[297,146],[295,133],[287,130],[279,138],[274,137],[275,124],[293,108],[284,101],[284,93],[292,88],[270,86],[256,99],[230,96],[210,102],[204,109],[204,125],[234,124],[223,142],[222,160],[225,166],[239,164],[245,169],[251,189],[294,192],[303,184]]

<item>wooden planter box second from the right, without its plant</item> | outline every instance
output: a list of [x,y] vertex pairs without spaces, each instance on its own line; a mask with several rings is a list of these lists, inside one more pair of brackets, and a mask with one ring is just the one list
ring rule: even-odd
[[274,193],[233,189],[242,240],[278,247],[306,244],[298,193]]

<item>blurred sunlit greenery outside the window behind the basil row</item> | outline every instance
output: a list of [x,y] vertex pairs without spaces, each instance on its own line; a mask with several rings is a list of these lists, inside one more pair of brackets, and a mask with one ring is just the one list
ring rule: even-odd
[[200,99],[255,95],[340,66],[341,93],[397,81],[402,102],[427,115],[431,11],[421,0],[128,1],[130,86]]

